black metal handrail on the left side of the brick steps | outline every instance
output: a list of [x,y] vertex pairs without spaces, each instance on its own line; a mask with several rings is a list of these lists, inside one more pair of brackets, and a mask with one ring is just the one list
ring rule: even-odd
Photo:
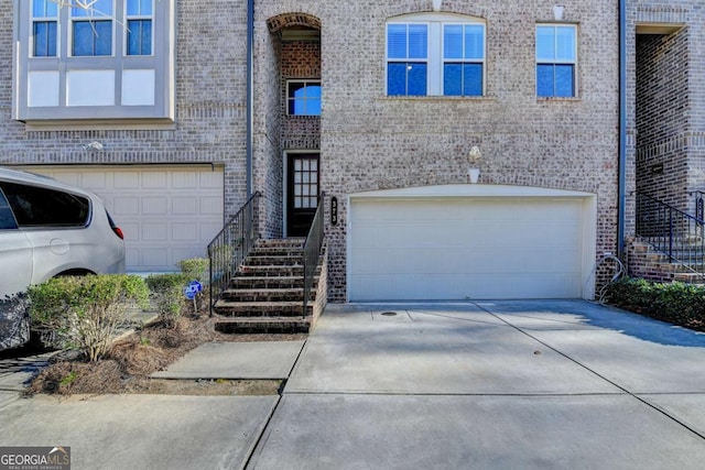
[[230,280],[259,238],[257,220],[261,196],[261,193],[254,193],[208,243],[210,315],[218,297],[228,287]]

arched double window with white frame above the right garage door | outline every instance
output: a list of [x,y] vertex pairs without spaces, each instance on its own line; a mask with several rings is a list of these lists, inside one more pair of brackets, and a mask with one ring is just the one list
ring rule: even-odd
[[387,23],[387,95],[482,96],[485,23],[419,14]]

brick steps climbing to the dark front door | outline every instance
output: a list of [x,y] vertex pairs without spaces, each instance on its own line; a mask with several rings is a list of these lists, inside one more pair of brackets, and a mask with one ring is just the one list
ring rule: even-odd
[[315,289],[303,311],[303,240],[259,240],[216,302],[216,330],[308,332]]

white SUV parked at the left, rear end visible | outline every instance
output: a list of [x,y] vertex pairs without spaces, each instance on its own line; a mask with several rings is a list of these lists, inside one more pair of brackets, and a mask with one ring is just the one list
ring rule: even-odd
[[0,168],[0,299],[57,275],[124,272],[124,242],[98,196]]

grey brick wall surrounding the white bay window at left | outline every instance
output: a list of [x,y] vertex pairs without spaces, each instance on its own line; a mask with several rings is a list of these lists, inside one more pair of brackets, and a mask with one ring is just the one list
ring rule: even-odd
[[[0,164],[223,164],[226,217],[238,210],[246,198],[245,0],[176,2],[187,22],[176,28],[176,123],[163,130],[28,131],[13,121],[13,3],[0,0]],[[96,140],[104,151],[84,150]]]

